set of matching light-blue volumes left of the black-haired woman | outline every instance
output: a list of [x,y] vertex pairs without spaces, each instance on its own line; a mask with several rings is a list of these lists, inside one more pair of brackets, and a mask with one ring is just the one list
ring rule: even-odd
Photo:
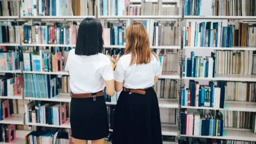
[[24,74],[25,97],[53,98],[58,94],[57,75]]

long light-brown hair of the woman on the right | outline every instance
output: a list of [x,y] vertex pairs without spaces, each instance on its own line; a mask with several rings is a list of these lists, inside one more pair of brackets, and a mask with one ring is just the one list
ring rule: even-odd
[[126,29],[125,54],[130,53],[132,59],[130,65],[147,64],[151,61],[149,38],[146,28],[140,22],[134,22]]

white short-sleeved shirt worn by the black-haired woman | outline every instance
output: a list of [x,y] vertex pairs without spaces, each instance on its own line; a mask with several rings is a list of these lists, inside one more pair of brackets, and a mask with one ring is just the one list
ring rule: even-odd
[[105,88],[105,81],[114,79],[110,59],[102,54],[76,55],[70,50],[65,70],[70,75],[73,93],[95,93]]

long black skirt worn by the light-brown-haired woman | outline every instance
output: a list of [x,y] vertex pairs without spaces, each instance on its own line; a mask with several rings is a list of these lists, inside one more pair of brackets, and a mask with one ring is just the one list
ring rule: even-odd
[[161,121],[156,93],[146,94],[122,91],[114,117],[114,144],[162,144]]

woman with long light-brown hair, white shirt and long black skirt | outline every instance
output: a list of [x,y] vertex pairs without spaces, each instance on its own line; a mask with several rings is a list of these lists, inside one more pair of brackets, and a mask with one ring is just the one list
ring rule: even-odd
[[114,117],[114,144],[162,142],[159,106],[153,85],[162,69],[149,48],[145,27],[134,22],[126,29],[125,54],[115,68],[115,90],[121,91]]

